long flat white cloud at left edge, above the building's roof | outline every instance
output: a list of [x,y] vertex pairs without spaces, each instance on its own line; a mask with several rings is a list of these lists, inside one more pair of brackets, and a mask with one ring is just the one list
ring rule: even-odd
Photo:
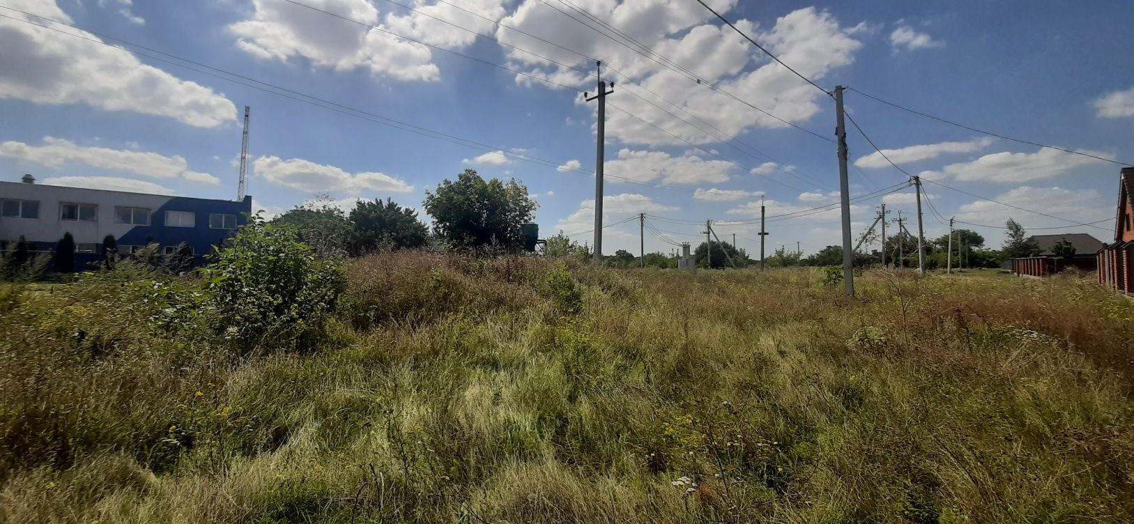
[[178,155],[166,157],[159,153],[86,147],[51,136],[43,138],[43,145],[29,145],[14,141],[0,143],[0,157],[24,160],[50,168],[62,167],[67,162],[79,162],[96,168],[130,171],[153,178],[175,178],[188,168],[185,159]]

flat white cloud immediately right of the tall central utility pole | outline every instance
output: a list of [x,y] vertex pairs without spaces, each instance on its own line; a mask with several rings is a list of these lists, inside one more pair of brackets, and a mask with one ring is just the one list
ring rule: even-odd
[[[603,164],[604,172],[634,181],[651,181],[661,178],[663,184],[704,184],[728,180],[733,164],[723,160],[702,160],[686,153],[670,157],[661,151],[632,151],[623,149],[617,160]],[[611,181],[618,181],[612,179]]]

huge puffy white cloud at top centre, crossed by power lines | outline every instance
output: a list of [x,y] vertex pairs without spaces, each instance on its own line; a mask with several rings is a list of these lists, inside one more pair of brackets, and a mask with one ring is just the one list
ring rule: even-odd
[[[720,0],[710,3],[718,11],[727,12],[736,1]],[[782,66],[767,60],[753,64],[754,60],[762,60],[759,58],[760,54],[753,52],[751,45],[738,39],[729,27],[711,22],[709,18],[712,15],[696,2],[624,0],[591,2],[584,8],[644,45],[658,50],[674,62],[692,70],[702,83],[717,85],[778,117],[798,122],[819,113],[826,107],[822,93]],[[611,138],[628,144],[650,145],[678,145],[684,144],[684,141],[697,144],[719,142],[718,137],[675,119],[670,112],[680,115],[683,119],[689,121],[706,122],[720,129],[713,130],[713,135],[726,138],[735,137],[752,128],[786,127],[784,122],[716,93],[705,85],[699,85],[653,60],[596,37],[586,27],[570,23],[561,14],[548,9],[538,0],[524,1],[511,16],[502,20],[502,24],[540,34],[541,37],[587,56],[603,57],[606,64],[610,64],[612,68],[645,87],[643,90],[624,83],[615,90],[610,100],[611,105],[618,109],[608,115],[607,126],[607,134]],[[832,69],[849,65],[854,60],[854,53],[862,47],[861,42],[850,36],[850,32],[861,33],[861,31],[845,29],[829,12],[815,8],[792,11],[778,18],[769,28],[744,19],[736,22],[736,25],[752,34],[799,73],[820,82]],[[594,67],[585,58],[515,31],[500,27],[496,36],[503,42],[539,52],[579,69],[591,70]],[[594,86],[593,77],[515,50],[505,52],[514,62],[528,66],[527,71],[534,75],[584,90]],[[523,77],[517,77],[517,81],[524,85],[534,85]],[[633,91],[652,103],[632,96],[626,91]],[[676,103],[680,109],[672,109],[669,102],[658,99],[650,92]],[[629,113],[658,125],[666,133],[631,117]],[[700,127],[710,129],[704,124]]]

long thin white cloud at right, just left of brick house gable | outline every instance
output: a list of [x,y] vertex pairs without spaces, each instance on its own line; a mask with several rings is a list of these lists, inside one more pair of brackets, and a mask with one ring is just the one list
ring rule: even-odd
[[[1101,158],[1112,158],[1108,153],[1080,150]],[[972,162],[958,162],[946,166],[941,171],[924,171],[925,178],[955,177],[958,180],[987,180],[1001,183],[1023,183],[1051,178],[1088,166],[1098,164],[1102,160],[1073,154],[1051,149],[1040,149],[1034,153],[991,153]]]

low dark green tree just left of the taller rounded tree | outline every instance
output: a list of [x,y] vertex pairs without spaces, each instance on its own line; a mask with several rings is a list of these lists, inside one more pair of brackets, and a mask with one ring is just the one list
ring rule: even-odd
[[421,247],[429,239],[429,230],[417,212],[403,208],[392,198],[359,200],[350,211],[354,225],[354,247],[366,252],[379,247]]

